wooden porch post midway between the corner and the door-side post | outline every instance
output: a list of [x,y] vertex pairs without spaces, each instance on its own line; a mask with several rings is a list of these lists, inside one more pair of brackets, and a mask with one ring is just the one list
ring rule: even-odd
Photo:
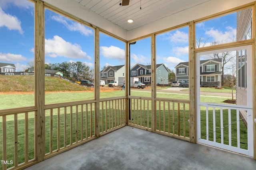
[[151,130],[156,131],[156,36],[151,35]]

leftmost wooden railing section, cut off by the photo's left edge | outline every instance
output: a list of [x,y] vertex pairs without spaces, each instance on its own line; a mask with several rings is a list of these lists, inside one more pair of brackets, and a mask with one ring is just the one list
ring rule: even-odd
[[0,111],[0,169],[35,164],[36,108]]

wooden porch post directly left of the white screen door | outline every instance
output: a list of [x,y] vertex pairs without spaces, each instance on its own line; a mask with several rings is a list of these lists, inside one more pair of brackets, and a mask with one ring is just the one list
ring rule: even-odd
[[191,21],[189,24],[189,125],[190,142],[196,143],[196,56],[195,48],[195,24]]

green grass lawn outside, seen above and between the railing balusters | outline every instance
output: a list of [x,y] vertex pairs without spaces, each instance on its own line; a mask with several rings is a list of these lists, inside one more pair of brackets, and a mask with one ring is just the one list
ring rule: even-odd
[[[151,97],[151,93],[147,93],[147,92],[138,92],[138,91],[131,91],[131,95],[133,96],[138,96],[138,93],[141,97]],[[116,96],[123,96],[124,95],[124,91],[112,91],[112,92],[100,92],[100,98],[106,98],[106,97],[116,97]],[[168,94],[168,93],[158,93],[158,98],[167,98],[167,99],[189,99],[188,95],[180,95],[180,94]],[[201,98],[201,102],[209,102],[211,101],[212,103],[223,103],[223,101],[225,99],[223,98],[219,98],[219,97],[207,97],[207,96],[202,96]],[[46,93],[45,94],[45,101],[46,101],[46,105],[48,104],[53,104],[53,103],[64,103],[64,102],[71,102],[71,101],[81,101],[81,100],[90,100],[90,99],[94,99],[94,93],[92,93],[91,91],[78,91],[78,92],[62,92],[62,93]],[[137,101],[136,101],[137,102]],[[2,97],[0,98],[0,104],[1,104],[1,109],[10,109],[10,108],[18,108],[18,107],[26,107],[26,106],[33,106],[34,105],[34,94],[26,94],[26,95],[14,95],[14,94],[10,94],[10,95],[2,95]],[[165,104],[166,105],[166,104]],[[149,126],[151,127],[151,101],[149,103],[149,105],[147,106],[149,108]],[[142,105],[143,108],[143,105]],[[157,111],[156,113],[156,128],[160,127],[160,130],[164,130],[168,129],[168,111],[166,110],[165,112],[163,111],[163,103],[161,103],[160,105],[160,111]],[[167,108],[167,107],[166,107]],[[74,109],[74,108],[73,108]],[[101,107],[100,107],[101,109]],[[105,109],[105,108],[104,108]],[[159,110],[159,105],[157,104],[157,110]],[[136,108],[135,108],[136,110]],[[189,108],[188,105],[185,108],[186,110],[186,129],[181,129],[181,132],[183,133],[183,131],[186,131],[186,136],[188,137],[189,135],[189,123],[188,123],[188,116],[189,116]],[[93,111],[93,117],[92,119],[94,119],[94,108],[92,109]],[[175,109],[175,112],[176,109]],[[201,108],[201,123],[202,123],[202,128],[201,128],[201,136],[205,136],[206,134],[206,128],[205,127],[205,119],[206,119],[206,115],[205,115],[206,109],[205,108]],[[226,118],[226,112],[224,111],[224,125],[227,125],[228,122],[227,118]],[[105,111],[103,111],[103,113],[105,113]],[[78,119],[80,120],[80,112],[78,113]],[[132,115],[132,117],[134,117],[134,121],[138,121],[137,118],[142,117],[142,126],[147,126],[147,122],[145,122],[144,120],[147,118],[147,114],[148,113],[142,113],[142,114],[137,114],[137,113],[132,113],[134,115]],[[212,118],[212,112],[209,111],[209,118]],[[236,121],[234,119],[235,116],[233,116],[234,114],[232,113],[232,122]],[[56,126],[57,126],[57,117],[56,114],[53,115],[54,116],[54,145],[53,145],[53,150],[56,149],[57,147],[57,131],[56,131]],[[72,141],[75,141],[75,114],[72,115],[73,116],[73,127],[72,127],[72,132],[73,132],[73,139]],[[101,115],[100,115],[101,117]],[[107,115],[107,120],[109,120],[109,117],[111,117],[111,115]],[[136,119],[135,119],[136,118]],[[145,119],[144,119],[145,118]],[[6,117],[7,119],[7,150],[8,152],[8,157],[7,160],[14,160],[14,116],[13,115],[8,115]],[[183,123],[183,117],[181,115],[181,125]],[[60,118],[60,122],[61,122],[61,147],[64,145],[64,137],[63,137],[63,133],[64,133],[64,116],[63,114],[61,115]],[[67,125],[67,144],[69,144],[69,120],[70,120],[70,114],[67,114],[67,121],[68,121],[68,125]],[[164,122],[165,120],[165,122]],[[172,117],[170,117],[170,120],[172,121]],[[177,120],[177,116],[175,115],[175,120]],[[115,120],[116,121],[116,120]],[[131,120],[132,121],[132,120]],[[160,124],[159,124],[160,122]],[[104,122],[103,127],[100,123],[100,128],[102,131],[104,131],[104,128],[106,126],[105,124],[106,122]],[[136,122],[135,122],[136,123]],[[140,124],[140,123],[138,123]],[[217,116],[216,117],[216,125],[220,124],[220,119]],[[165,126],[164,126],[165,125]],[[79,131],[78,134],[80,134],[80,125],[79,126]],[[84,125],[85,126],[85,125]],[[90,127],[90,126],[89,126]],[[92,125],[92,127],[94,127],[94,124]],[[85,127],[84,127],[85,128]],[[107,125],[107,128],[109,128],[109,125]],[[175,124],[175,128],[177,127],[177,124]],[[217,130],[218,128],[220,128],[220,126],[216,127]],[[49,117],[49,113],[48,111],[46,112],[46,153],[49,152],[49,129],[50,129],[50,117]],[[212,130],[212,124],[209,125],[209,129]],[[228,136],[228,131],[226,130],[227,128],[224,129],[224,134],[225,136]],[[172,132],[172,123],[171,123],[171,132]],[[24,162],[24,139],[25,139],[25,125],[24,125],[24,113],[22,114],[18,114],[18,158],[19,158],[19,163]],[[94,131],[93,131],[94,132]],[[85,132],[84,132],[85,133]],[[220,132],[218,130],[217,132],[217,141],[220,140]],[[232,125],[232,146],[234,144],[234,146],[236,146],[236,139],[235,139],[235,134],[236,134],[236,127],[234,127],[234,125]],[[89,135],[89,134],[83,134],[83,136],[85,135]],[[2,117],[0,117],[0,138],[2,139]],[[78,136],[78,138],[80,139],[80,136]],[[209,136],[210,139],[212,139],[212,134],[210,134]],[[226,137],[225,137],[226,139]],[[247,147],[247,128],[244,126],[244,123],[242,123],[242,121],[240,121],[240,140],[241,140],[241,147],[242,148],[246,148]],[[226,143],[225,143],[226,144]],[[0,140],[0,146],[2,146],[2,140]],[[0,155],[2,156],[2,150],[0,150]],[[29,159],[34,158],[34,113],[29,113]],[[12,165],[8,166],[9,168]],[[2,168],[2,165],[0,165],[0,168]]]

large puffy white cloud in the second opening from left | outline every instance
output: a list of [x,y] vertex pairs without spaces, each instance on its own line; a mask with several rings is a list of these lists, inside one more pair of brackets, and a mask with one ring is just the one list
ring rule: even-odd
[[66,57],[91,60],[91,57],[82,51],[80,45],[66,42],[59,36],[45,40],[45,55],[48,57]]

